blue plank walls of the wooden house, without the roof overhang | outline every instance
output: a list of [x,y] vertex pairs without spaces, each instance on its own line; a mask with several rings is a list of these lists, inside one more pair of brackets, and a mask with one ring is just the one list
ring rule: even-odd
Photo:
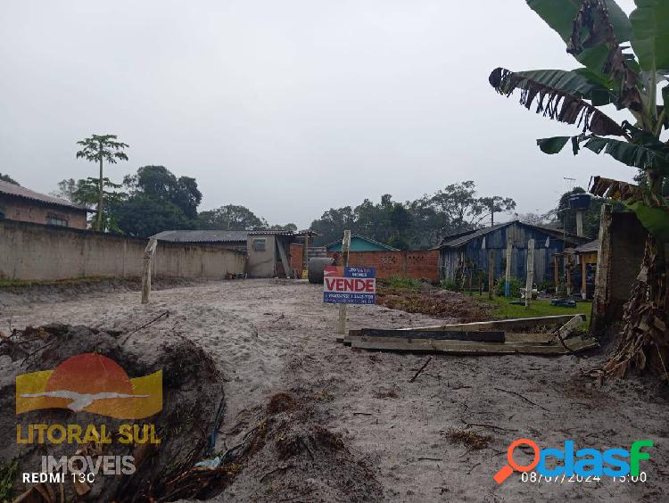
[[[458,248],[442,247],[440,253],[440,275],[442,279],[455,279],[458,268],[467,259],[477,269],[488,270],[488,254],[495,250],[494,276],[503,276],[506,270],[507,238],[513,243],[511,252],[511,276],[520,280],[526,277],[527,243],[534,240],[534,283],[553,281],[553,255],[562,252],[564,242],[538,229],[522,225],[500,227],[487,235],[479,236]],[[548,241],[547,241],[548,240]],[[547,246],[548,245],[548,246]]]

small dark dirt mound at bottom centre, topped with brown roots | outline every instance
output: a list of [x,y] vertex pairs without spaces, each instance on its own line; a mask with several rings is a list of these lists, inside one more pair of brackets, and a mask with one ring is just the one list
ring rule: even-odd
[[[277,398],[279,397],[279,398]],[[268,413],[280,402],[284,410]],[[285,408],[290,404],[289,408]],[[221,494],[222,500],[361,501],[383,491],[365,459],[346,445],[342,432],[318,419],[319,402],[308,392],[278,393],[248,419],[244,469]],[[251,435],[251,436],[250,436]]]

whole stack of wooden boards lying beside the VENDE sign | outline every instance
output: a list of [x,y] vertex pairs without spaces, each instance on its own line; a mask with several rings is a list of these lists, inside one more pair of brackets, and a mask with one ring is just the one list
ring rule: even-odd
[[[592,337],[570,337],[585,315],[526,317],[458,325],[419,326],[399,329],[351,330],[345,345],[364,350],[394,350],[458,354],[571,354],[597,347]],[[559,326],[549,333],[520,332],[536,327]]]

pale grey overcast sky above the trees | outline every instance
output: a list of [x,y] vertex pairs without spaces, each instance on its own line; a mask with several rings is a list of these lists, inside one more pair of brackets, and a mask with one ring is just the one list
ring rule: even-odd
[[542,154],[535,138],[574,128],[488,84],[497,66],[576,66],[523,0],[3,0],[0,61],[0,172],[41,192],[95,176],[75,160],[91,133],[130,144],[112,179],[161,164],[197,178],[201,210],[300,227],[466,179],[545,211],[563,177],[634,174]]

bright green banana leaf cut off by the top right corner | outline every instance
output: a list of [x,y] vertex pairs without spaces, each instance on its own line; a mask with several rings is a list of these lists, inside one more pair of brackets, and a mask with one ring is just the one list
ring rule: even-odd
[[637,8],[630,14],[631,41],[641,70],[669,69],[669,2],[635,0],[635,3]]

